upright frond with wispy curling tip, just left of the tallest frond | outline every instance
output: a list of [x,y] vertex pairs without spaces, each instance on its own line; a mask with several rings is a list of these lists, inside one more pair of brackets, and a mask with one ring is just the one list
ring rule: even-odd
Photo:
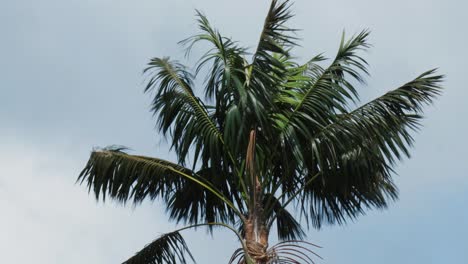
[[229,151],[235,155],[242,149],[242,139],[246,133],[239,111],[247,102],[244,87],[246,51],[231,39],[223,37],[201,12],[197,11],[197,17],[201,33],[181,43],[187,45],[188,51],[201,41],[208,42],[212,47],[200,58],[196,73],[209,66],[209,74],[205,79],[205,96],[215,102],[211,117],[223,132],[223,140],[228,144]]

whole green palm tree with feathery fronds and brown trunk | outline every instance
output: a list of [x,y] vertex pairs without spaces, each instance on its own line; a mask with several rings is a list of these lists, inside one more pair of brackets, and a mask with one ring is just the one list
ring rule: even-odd
[[[327,67],[322,55],[300,64],[290,55],[297,39],[286,25],[289,7],[271,1],[253,53],[197,12],[200,33],[182,44],[211,49],[193,73],[169,58],[149,62],[145,92],[177,161],[97,149],[78,181],[97,199],[161,200],[187,226],[125,263],[186,263],[193,257],[181,231],[196,227],[233,232],[240,249],[231,263],[313,263],[305,229],[345,223],[397,198],[392,168],[409,156],[422,107],[440,94],[443,77],[430,70],[360,104],[369,32],[343,36]],[[205,100],[194,84],[203,70]],[[274,225],[281,242],[269,246]]]

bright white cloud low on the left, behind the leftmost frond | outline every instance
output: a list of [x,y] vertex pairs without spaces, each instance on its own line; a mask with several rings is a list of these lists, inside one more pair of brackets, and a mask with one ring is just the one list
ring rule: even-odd
[[72,149],[11,138],[0,145],[2,262],[119,263],[169,230],[150,203],[96,203],[74,184],[83,164]]

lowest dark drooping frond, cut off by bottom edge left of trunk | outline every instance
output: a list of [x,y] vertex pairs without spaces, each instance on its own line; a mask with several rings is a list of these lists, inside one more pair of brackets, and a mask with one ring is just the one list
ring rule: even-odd
[[187,260],[195,262],[184,238],[176,231],[162,235],[123,264],[186,264]]

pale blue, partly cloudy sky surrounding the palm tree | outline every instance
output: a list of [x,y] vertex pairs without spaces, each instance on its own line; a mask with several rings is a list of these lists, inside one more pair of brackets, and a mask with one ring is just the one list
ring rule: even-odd
[[[184,59],[176,43],[203,11],[225,36],[255,47],[268,1],[16,0],[0,3],[0,252],[4,263],[121,263],[175,228],[157,202],[97,202],[75,184],[90,151],[119,144],[174,160],[155,131],[142,69]],[[363,100],[439,68],[444,94],[426,108],[400,199],[344,226],[310,230],[318,263],[464,263],[468,259],[466,1],[297,0],[300,60],[335,55],[368,28]],[[194,58],[188,59],[193,62]],[[184,233],[198,263],[227,263],[227,232]]]

